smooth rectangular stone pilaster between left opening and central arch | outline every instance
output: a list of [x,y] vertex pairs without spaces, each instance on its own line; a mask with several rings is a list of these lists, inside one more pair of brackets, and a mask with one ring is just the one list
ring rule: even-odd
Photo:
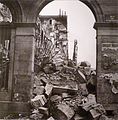
[[16,24],[13,101],[27,102],[30,99],[34,69],[34,35],[33,24]]

